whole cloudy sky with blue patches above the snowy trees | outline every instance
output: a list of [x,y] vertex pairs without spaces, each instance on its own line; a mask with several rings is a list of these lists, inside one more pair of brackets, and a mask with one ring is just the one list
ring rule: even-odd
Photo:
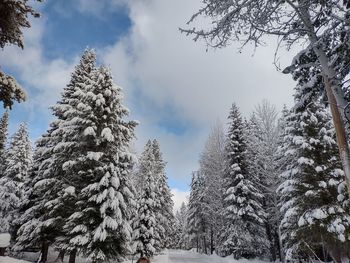
[[[238,45],[208,49],[179,27],[200,0],[47,0],[35,4],[41,18],[25,31],[25,48],[0,50],[2,70],[26,89],[28,100],[11,112],[10,132],[27,122],[33,141],[52,119],[58,99],[86,47],[111,67],[123,87],[131,118],[140,121],[135,147],[160,141],[176,202],[187,195],[210,127],[226,122],[236,102],[244,116],[268,99],[278,109],[292,102],[293,81],[273,65],[276,40],[253,52]],[[291,54],[280,54],[287,66]],[[0,110],[0,113],[1,110]]]

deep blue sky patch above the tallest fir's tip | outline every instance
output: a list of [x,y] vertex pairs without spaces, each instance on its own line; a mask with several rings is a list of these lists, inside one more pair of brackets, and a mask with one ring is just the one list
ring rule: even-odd
[[99,14],[82,12],[76,1],[48,1],[41,11],[45,20],[44,55],[48,59],[71,59],[86,47],[101,49],[114,44],[129,30],[131,22],[123,7],[106,6]]

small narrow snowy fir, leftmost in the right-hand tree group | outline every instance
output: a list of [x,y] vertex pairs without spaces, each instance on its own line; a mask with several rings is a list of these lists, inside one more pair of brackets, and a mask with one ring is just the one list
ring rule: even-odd
[[196,247],[197,252],[207,254],[207,222],[203,213],[204,189],[203,175],[198,171],[193,172],[187,211],[187,234],[190,247]]

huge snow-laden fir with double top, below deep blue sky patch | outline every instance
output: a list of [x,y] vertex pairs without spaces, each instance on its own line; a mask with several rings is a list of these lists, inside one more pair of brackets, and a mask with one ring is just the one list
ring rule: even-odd
[[[129,144],[136,122],[126,121],[121,89],[111,73],[96,69],[86,50],[54,107],[57,117],[39,141],[34,190],[28,207],[32,218],[20,229],[19,245],[34,230],[46,242],[77,252],[92,262],[121,260],[129,250],[129,220],[134,207],[129,173]],[[34,210],[34,211],[33,211]],[[36,224],[36,225],[35,225]]]

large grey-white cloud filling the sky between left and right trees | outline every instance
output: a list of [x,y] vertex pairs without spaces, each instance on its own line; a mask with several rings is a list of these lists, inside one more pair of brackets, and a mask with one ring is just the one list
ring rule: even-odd
[[[198,4],[129,1],[132,28],[103,55],[141,121],[138,148],[148,138],[158,137],[169,175],[186,182],[197,169],[209,127],[218,118],[226,120],[232,102],[246,116],[264,98],[282,108],[292,101],[294,85],[290,76],[277,72],[272,64],[274,46],[257,49],[254,56],[251,50],[238,53],[237,45],[206,52],[203,43],[181,34],[178,28],[185,26]],[[284,62],[289,59],[285,57]],[[142,96],[135,99],[135,94]],[[174,134],[159,125],[169,117],[168,108],[173,110],[173,125],[181,120],[192,127],[191,132]]]

